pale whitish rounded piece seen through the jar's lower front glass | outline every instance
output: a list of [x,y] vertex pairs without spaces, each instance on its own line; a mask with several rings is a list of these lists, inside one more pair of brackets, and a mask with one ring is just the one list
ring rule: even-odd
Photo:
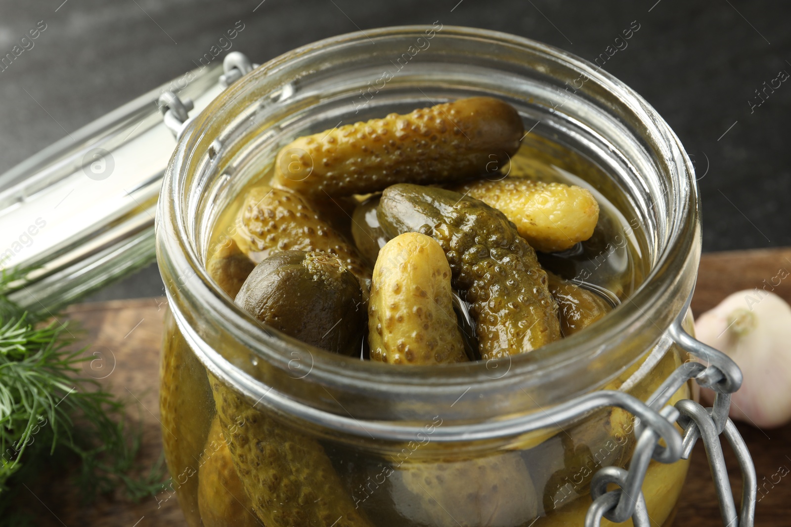
[[415,525],[529,525],[536,491],[517,452],[489,457],[407,461],[393,476],[393,501]]

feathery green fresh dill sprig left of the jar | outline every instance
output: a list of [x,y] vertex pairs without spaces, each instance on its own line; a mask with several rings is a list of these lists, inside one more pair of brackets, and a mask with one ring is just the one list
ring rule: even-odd
[[93,357],[73,349],[67,324],[31,322],[46,315],[9,301],[8,284],[20,276],[0,275],[0,513],[13,505],[13,490],[59,451],[80,461],[78,485],[86,500],[119,486],[131,499],[155,495],[163,462],[142,476],[134,473],[142,429],[130,429],[123,401],[82,374]]

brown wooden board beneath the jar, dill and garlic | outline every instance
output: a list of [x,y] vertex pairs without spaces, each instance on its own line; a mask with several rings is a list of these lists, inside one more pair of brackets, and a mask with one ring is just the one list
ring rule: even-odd
[[[714,307],[740,289],[766,287],[768,290],[770,285],[766,284],[772,284],[771,279],[781,269],[791,270],[791,248],[705,254],[692,303],[694,314]],[[774,292],[791,302],[791,279],[781,281]],[[106,375],[102,382],[130,401],[131,416],[139,416],[142,421],[140,462],[144,466],[151,465],[161,454],[157,380],[165,308],[165,299],[135,299],[80,304],[68,311],[70,318],[80,322],[89,333],[85,342],[93,344],[88,352],[103,354],[100,356],[105,362],[94,363],[93,375]],[[764,489],[759,493],[755,525],[789,525],[791,476],[783,477],[774,487],[770,481],[778,481],[778,472],[782,474],[788,472],[786,467],[791,468],[791,425],[774,430],[759,430],[743,423],[738,426],[755,460],[759,486],[763,485]],[[734,494],[738,496],[738,465],[727,446],[725,453]],[[55,475],[22,491],[21,502],[36,515],[36,525],[43,526],[186,525],[175,497],[167,499],[167,493],[136,504],[110,496],[83,506],[79,497],[80,489],[70,485],[66,476]],[[722,525],[702,442],[695,446],[675,525]]]

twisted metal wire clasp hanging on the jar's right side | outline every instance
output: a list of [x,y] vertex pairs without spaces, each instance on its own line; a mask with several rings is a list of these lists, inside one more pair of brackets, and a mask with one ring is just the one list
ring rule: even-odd
[[[668,335],[680,348],[691,355],[691,359],[679,366],[659,386],[647,404],[653,411],[658,411],[664,419],[670,423],[678,422],[683,428],[682,451],[679,458],[690,457],[695,442],[703,439],[712,478],[717,487],[723,524],[727,527],[752,527],[755,523],[757,495],[755,465],[744,439],[736,430],[736,425],[728,418],[731,393],[739,390],[741,386],[741,371],[729,356],[697,341],[683,329],[682,322],[690,302],[691,297],[687,299],[681,314],[668,329]],[[694,378],[700,386],[711,388],[716,392],[713,407],[703,408],[689,399],[678,401],[675,406],[665,406],[673,393],[691,378]],[[672,463],[678,459],[671,459],[672,456],[666,455],[669,449],[658,444],[660,435],[653,430],[651,423],[643,424],[639,417],[635,419],[637,423],[634,429],[638,444],[634,449],[629,470],[605,467],[596,472],[591,481],[593,503],[585,517],[585,527],[598,527],[603,517],[616,523],[631,518],[635,527],[649,527],[652,523],[642,495],[642,483],[649,462],[652,458],[662,463]],[[728,439],[742,472],[743,490],[739,512],[736,511],[725,457],[722,454],[719,439],[721,434],[725,434],[725,439]],[[619,488],[607,491],[608,484],[615,484]]]

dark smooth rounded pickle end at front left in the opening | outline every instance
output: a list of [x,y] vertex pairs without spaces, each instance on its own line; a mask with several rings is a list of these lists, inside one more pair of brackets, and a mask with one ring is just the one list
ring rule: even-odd
[[357,278],[322,252],[272,254],[255,265],[236,303],[291,337],[345,355],[359,352],[368,318]]

